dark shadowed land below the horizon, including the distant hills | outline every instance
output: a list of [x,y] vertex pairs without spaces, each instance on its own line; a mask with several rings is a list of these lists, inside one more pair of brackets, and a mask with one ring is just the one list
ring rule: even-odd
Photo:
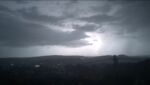
[[150,85],[146,57],[1,58],[0,85]]

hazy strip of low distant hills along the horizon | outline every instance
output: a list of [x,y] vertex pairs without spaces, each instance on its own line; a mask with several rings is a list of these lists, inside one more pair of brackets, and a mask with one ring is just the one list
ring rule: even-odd
[[[62,56],[62,55],[51,55],[51,56],[37,56],[37,57],[17,57],[17,58],[0,58],[0,63],[8,62],[20,62],[20,63],[64,63],[64,64],[73,64],[73,63],[112,63],[113,56],[95,56],[95,57],[85,57],[85,56]],[[119,62],[138,62],[147,59],[148,57],[130,57],[125,55],[118,55],[117,58]]]

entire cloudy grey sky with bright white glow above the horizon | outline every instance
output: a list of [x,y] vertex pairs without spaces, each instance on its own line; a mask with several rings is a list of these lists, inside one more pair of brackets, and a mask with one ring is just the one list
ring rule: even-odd
[[150,1],[0,1],[0,57],[114,54],[150,55]]

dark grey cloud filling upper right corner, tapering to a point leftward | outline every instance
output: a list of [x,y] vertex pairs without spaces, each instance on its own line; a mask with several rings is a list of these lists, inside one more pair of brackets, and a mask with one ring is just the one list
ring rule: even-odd
[[[116,2],[114,1],[110,3],[111,4],[109,4],[108,7],[104,7],[102,14],[80,19],[100,25],[103,23],[111,23],[111,25],[120,26],[120,28],[122,28],[122,30],[120,30],[120,33],[123,33],[122,31],[128,34],[139,32],[149,35],[150,1],[126,0]],[[117,10],[115,14],[107,14],[107,12],[113,10],[112,7],[115,7],[117,5],[119,5],[121,8]],[[95,7],[93,8],[93,10],[100,11],[101,8]],[[113,30],[117,30],[117,28]]]

